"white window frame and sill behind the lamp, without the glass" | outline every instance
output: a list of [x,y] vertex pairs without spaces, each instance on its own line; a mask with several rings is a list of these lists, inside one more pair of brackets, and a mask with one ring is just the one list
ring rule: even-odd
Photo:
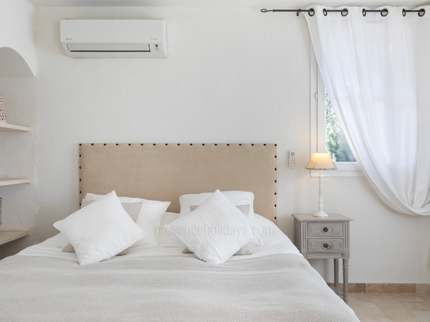
[[[315,52],[310,48],[310,155],[326,152],[326,87],[319,73]],[[324,176],[364,176],[357,162],[335,162],[338,170],[324,170]],[[318,170],[309,170],[318,176]]]

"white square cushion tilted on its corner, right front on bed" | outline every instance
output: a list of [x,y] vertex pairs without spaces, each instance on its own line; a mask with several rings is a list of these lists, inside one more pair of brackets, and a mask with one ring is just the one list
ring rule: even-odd
[[260,226],[243,216],[219,190],[192,213],[166,226],[197,258],[210,264],[224,263],[249,240],[260,235]]

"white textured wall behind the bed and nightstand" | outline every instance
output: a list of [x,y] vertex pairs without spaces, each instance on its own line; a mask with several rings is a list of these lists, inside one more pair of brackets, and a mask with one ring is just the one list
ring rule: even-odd
[[[61,18],[166,18],[166,59],[68,58]],[[310,158],[310,37],[304,17],[258,9],[37,8],[35,173],[27,240],[79,207],[78,143],[277,143],[279,227],[316,209]],[[289,150],[297,167],[287,167]],[[365,178],[326,178],[324,204],[351,224],[350,282],[430,282],[430,218],[402,215]],[[18,207],[18,206],[17,206]],[[1,250],[1,249],[0,249]],[[314,260],[329,281],[332,261]]]

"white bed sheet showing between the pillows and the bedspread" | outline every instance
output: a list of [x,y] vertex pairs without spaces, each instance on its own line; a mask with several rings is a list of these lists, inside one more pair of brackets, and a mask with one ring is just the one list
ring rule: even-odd
[[[296,254],[302,256],[289,238],[270,220],[254,215],[253,219],[258,225],[263,226],[265,233],[258,237],[261,240],[261,246],[251,248],[252,255],[232,256],[229,261],[236,259],[254,258],[273,254]],[[54,237],[48,238],[42,243],[27,247],[16,255],[28,256],[48,256],[56,258],[64,258],[72,261],[77,261],[75,253],[62,252],[64,246],[68,244],[66,237],[59,233]],[[141,257],[141,256],[194,256],[194,254],[182,254],[184,247],[154,247],[144,248],[136,247],[129,250],[128,255],[121,257]],[[114,256],[118,257],[118,256]]]

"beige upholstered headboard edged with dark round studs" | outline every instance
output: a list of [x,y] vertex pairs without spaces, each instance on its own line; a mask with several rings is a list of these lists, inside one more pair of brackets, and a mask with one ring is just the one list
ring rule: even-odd
[[171,201],[182,194],[252,191],[254,211],[276,222],[276,144],[80,144],[80,200],[87,192]]

